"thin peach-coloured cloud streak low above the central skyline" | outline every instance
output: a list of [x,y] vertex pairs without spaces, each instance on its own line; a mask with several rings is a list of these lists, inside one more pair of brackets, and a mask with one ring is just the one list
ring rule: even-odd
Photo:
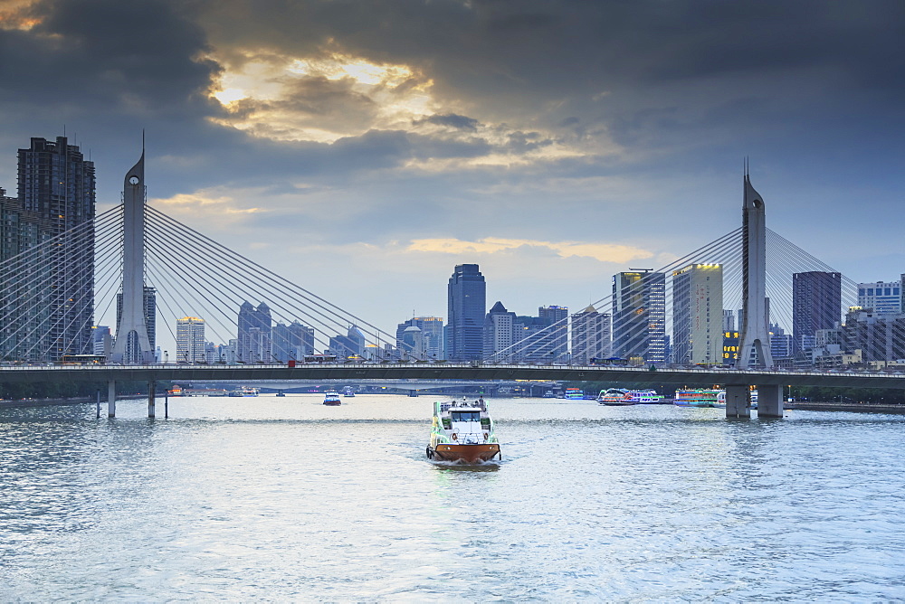
[[444,254],[494,254],[519,248],[546,248],[562,258],[584,257],[601,262],[624,263],[630,260],[653,258],[652,251],[614,243],[584,243],[579,241],[535,241],[528,239],[498,239],[489,237],[478,241],[460,239],[419,239],[408,246],[408,251],[436,252]]

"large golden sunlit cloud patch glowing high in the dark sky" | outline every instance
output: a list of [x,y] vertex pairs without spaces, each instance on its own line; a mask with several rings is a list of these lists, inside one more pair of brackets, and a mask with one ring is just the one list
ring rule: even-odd
[[[244,51],[210,58],[223,67],[209,92],[223,113],[211,121],[253,137],[329,144],[375,130],[412,133],[430,144],[406,167],[429,172],[532,165],[602,152],[597,142],[567,140],[536,125],[466,115],[457,102],[437,96],[429,74],[409,65],[343,52],[300,58]],[[476,143],[486,150],[464,156],[449,151]]]

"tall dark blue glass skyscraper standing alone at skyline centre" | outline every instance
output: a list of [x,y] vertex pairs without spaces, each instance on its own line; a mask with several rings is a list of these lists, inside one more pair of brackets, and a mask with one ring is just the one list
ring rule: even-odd
[[446,358],[451,361],[481,359],[486,284],[477,264],[459,264],[447,288]]

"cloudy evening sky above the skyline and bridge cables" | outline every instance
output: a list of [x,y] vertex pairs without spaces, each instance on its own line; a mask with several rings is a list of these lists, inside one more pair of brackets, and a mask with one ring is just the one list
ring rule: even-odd
[[[456,264],[519,315],[767,225],[905,273],[905,3],[0,0],[0,187],[63,129],[148,203],[383,329]],[[252,301],[256,302],[256,301]]]

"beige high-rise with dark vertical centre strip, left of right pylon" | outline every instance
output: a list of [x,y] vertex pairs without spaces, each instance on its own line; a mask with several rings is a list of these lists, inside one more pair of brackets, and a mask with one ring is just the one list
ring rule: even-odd
[[723,363],[723,267],[691,264],[672,273],[672,362]]

